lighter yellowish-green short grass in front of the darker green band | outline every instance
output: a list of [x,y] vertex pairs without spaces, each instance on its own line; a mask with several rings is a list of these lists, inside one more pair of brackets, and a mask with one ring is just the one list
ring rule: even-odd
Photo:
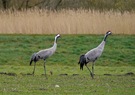
[[[25,75],[31,73],[33,67],[3,65],[1,68],[17,73],[16,76],[0,75],[0,94],[3,95],[133,95],[135,92],[135,76],[125,75],[127,70],[129,70],[128,72],[135,72],[134,67],[130,66],[96,66],[96,75],[93,80],[86,68],[84,71],[80,71],[78,66],[47,66],[48,79],[41,75],[43,74],[42,66],[37,66],[35,76]],[[50,69],[53,69],[53,75],[49,74]],[[0,72],[3,70],[0,69]],[[112,75],[105,76],[103,75],[104,72]],[[65,73],[68,75],[59,75]],[[73,76],[73,74],[79,75]],[[56,85],[59,87],[55,87]]]

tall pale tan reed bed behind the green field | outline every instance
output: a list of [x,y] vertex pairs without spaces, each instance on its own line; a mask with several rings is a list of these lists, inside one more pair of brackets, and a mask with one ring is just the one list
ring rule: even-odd
[[135,34],[134,12],[1,11],[0,34]]

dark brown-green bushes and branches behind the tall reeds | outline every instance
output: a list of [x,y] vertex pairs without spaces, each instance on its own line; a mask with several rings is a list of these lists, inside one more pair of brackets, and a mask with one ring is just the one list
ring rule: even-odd
[[91,9],[134,11],[135,0],[1,0],[1,9]]

